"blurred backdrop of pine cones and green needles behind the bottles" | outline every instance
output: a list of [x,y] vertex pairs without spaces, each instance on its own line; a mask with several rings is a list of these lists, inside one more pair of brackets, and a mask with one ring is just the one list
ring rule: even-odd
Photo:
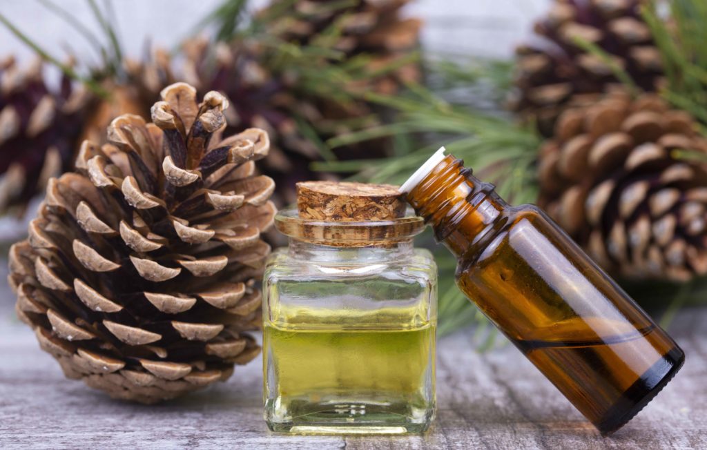
[[[25,237],[83,139],[187,81],[230,99],[228,132],[268,131],[278,206],[303,179],[402,182],[445,145],[668,326],[707,290],[703,20],[698,0],[4,1],[0,240]],[[455,261],[420,244],[440,331],[476,326],[491,348]]]

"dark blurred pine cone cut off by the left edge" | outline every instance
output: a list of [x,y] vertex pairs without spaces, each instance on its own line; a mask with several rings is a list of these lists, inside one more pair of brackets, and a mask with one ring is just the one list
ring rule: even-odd
[[69,168],[88,95],[64,76],[49,90],[37,60],[27,69],[0,61],[0,213],[25,211],[49,177]]

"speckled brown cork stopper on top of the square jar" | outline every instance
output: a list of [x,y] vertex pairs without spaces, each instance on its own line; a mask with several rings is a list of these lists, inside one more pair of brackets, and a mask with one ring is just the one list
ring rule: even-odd
[[406,203],[392,184],[300,182],[297,208],[304,219],[366,222],[402,218]]

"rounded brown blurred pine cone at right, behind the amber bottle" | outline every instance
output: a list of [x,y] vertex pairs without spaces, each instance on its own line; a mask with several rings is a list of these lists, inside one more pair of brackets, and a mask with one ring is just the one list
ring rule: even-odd
[[541,151],[539,205],[618,276],[703,275],[707,140],[697,129],[653,94],[568,109]]

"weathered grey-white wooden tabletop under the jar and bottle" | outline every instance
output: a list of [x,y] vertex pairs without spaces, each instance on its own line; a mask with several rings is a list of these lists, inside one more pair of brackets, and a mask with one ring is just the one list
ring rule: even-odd
[[0,294],[0,449],[707,449],[707,308],[678,314],[671,331],[686,364],[609,438],[518,350],[476,353],[468,331],[438,343],[438,415],[427,434],[302,437],[267,430],[259,359],[176,401],[114,401],[64,379],[15,318],[4,282]]

